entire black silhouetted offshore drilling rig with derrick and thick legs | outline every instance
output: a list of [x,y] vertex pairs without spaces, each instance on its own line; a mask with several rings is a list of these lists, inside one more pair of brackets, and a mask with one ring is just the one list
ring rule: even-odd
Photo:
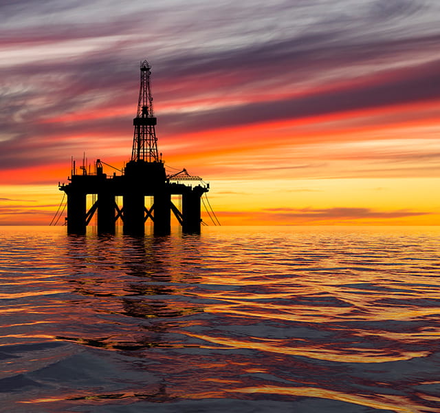
[[[189,176],[184,169],[167,175],[162,153],[157,153],[155,125],[151,95],[151,65],[143,61],[140,65],[140,92],[137,114],[133,119],[134,136],[131,160],[126,163],[121,175],[107,176],[101,160],[96,160],[93,173],[87,166],[76,173],[72,160],[72,178],[69,184],[60,184],[60,191],[67,195],[67,232],[83,234],[91,218],[97,216],[98,233],[114,233],[120,219],[124,234],[142,235],[145,222],[153,222],[155,235],[170,233],[171,213],[174,213],[184,233],[199,233],[201,226],[201,196],[209,191],[209,184],[181,184],[181,180],[201,180]],[[107,164],[105,164],[107,165]],[[177,181],[177,182],[172,182]],[[93,195],[92,205],[87,210],[87,195]],[[181,209],[171,200],[171,195],[181,196]],[[122,196],[122,208],[115,197]],[[146,206],[145,197],[153,197],[153,204]]]

